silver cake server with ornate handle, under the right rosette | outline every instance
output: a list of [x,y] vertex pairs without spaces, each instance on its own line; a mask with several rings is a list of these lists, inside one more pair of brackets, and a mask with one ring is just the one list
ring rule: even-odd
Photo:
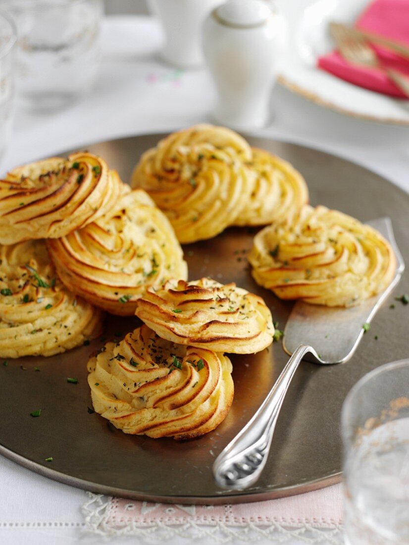
[[298,301],[284,330],[284,350],[292,354],[288,364],[247,425],[230,441],[213,464],[218,486],[241,490],[252,486],[267,462],[274,428],[284,396],[300,362],[305,359],[322,365],[349,360],[364,334],[363,324],[371,319],[384,299],[398,284],[405,263],[388,217],[368,222],[386,239],[396,255],[395,276],[384,292],[356,307],[328,308]]

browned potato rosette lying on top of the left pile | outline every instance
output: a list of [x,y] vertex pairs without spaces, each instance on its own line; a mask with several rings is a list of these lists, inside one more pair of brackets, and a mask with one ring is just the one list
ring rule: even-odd
[[122,187],[90,153],[15,168],[0,179],[0,244],[63,237],[105,214]]

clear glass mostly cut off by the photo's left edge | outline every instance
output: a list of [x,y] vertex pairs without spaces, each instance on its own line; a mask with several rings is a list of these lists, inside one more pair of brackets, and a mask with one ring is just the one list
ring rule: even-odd
[[13,19],[0,9],[0,164],[11,134],[16,40],[17,32]]

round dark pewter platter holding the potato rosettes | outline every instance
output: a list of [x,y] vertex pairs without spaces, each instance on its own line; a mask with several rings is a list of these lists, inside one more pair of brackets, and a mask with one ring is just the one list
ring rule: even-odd
[[[88,149],[103,156],[127,181],[141,153],[162,136],[123,138]],[[326,153],[263,138],[248,140],[298,168],[307,180],[312,204],[337,208],[364,222],[389,216],[398,247],[409,263],[409,195],[404,191]],[[230,228],[214,239],[186,245],[189,277],[234,281],[263,296],[279,329],[284,329],[293,304],[257,286],[248,270],[246,253],[256,232]],[[103,344],[101,338],[51,358],[9,359],[7,366],[0,361],[0,453],[72,486],[151,501],[257,501],[328,486],[340,479],[339,420],[347,392],[368,371],[409,354],[409,306],[394,301],[394,296],[405,292],[409,292],[407,272],[383,302],[348,362],[301,364],[285,397],[267,465],[252,488],[241,492],[218,488],[212,464],[251,419],[286,364],[288,355],[281,343],[255,355],[231,356],[235,396],[230,413],[215,431],[180,443],[126,435],[96,413],[88,413],[86,364],[89,354]],[[394,308],[389,308],[391,304]],[[136,318],[108,316],[103,338],[123,336],[137,325]],[[78,384],[67,383],[67,377],[77,378]],[[41,416],[31,417],[37,409]],[[51,456],[53,461],[45,462]]]

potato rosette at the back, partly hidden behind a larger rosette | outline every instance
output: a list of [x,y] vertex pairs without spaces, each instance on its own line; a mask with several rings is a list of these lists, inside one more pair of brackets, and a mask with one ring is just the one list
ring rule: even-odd
[[234,224],[291,223],[308,203],[306,181],[287,161],[263,149],[253,148],[252,152],[247,166],[255,173],[253,187]]

